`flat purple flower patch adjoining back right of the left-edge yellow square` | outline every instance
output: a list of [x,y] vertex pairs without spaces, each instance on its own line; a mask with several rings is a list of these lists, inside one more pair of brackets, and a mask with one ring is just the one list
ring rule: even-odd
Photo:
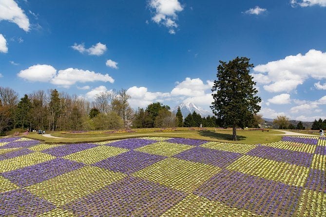
[[43,150],[43,153],[50,154],[56,157],[63,157],[68,154],[73,154],[78,151],[86,150],[89,148],[96,147],[95,144],[90,143],[83,143],[83,144],[69,144],[69,145],[61,145],[58,147],[49,148],[46,150]]

